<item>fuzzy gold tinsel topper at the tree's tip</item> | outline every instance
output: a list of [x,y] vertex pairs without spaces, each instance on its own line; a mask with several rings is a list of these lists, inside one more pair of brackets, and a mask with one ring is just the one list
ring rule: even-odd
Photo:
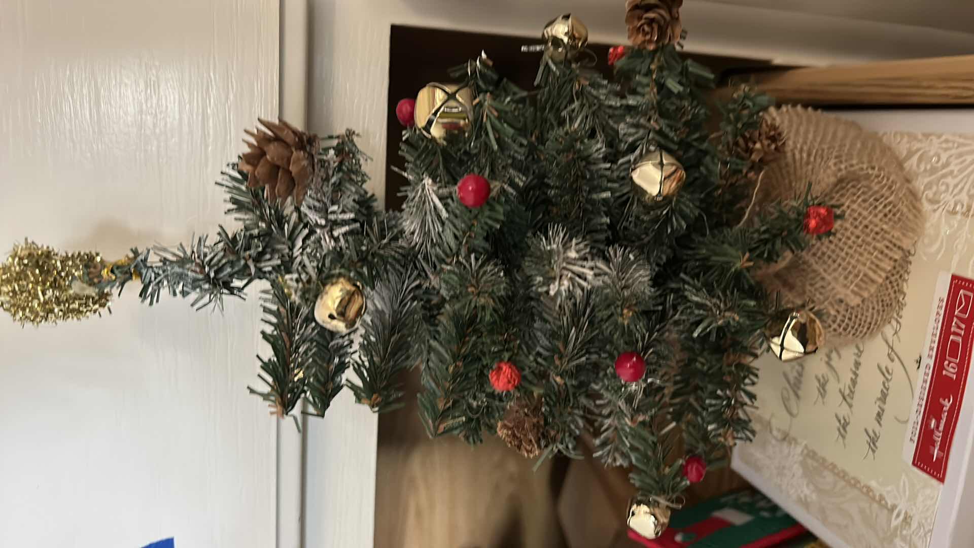
[[100,270],[101,255],[59,254],[24,241],[0,264],[0,309],[22,324],[80,320],[108,306],[110,295],[85,284],[85,273]]

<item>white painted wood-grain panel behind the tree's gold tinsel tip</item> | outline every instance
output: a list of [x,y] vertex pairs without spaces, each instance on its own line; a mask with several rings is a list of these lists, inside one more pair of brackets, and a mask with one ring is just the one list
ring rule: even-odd
[[[0,245],[109,257],[224,216],[212,181],[278,104],[277,0],[0,2]],[[0,314],[0,546],[275,542],[257,303],[130,291],[101,319]]]

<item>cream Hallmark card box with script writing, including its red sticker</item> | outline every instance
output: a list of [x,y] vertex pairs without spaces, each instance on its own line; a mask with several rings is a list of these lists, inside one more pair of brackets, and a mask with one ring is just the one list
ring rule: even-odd
[[[927,215],[903,313],[851,346],[759,360],[757,435],[732,467],[833,547],[974,546],[974,135],[882,131],[916,130],[920,113],[863,116]],[[958,120],[974,128],[970,112]]]

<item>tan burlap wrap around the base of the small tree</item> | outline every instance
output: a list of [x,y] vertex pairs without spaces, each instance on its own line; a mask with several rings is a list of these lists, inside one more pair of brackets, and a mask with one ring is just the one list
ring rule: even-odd
[[895,153],[858,125],[802,107],[766,114],[784,132],[784,154],[768,166],[756,205],[813,195],[844,218],[760,276],[786,305],[815,311],[830,343],[879,332],[904,305],[911,253],[923,231],[919,194]]

